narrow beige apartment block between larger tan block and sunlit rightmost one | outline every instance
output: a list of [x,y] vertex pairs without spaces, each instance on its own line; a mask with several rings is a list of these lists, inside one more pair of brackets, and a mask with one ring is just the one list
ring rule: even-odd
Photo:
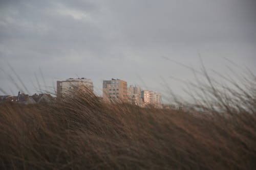
[[129,102],[133,105],[142,106],[143,101],[141,98],[141,88],[139,86],[131,85],[128,88]]

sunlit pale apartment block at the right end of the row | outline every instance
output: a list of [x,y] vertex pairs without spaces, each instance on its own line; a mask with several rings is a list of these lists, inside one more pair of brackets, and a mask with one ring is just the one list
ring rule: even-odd
[[141,92],[141,95],[145,105],[152,105],[157,108],[162,108],[161,93],[150,91],[150,90],[143,90]]

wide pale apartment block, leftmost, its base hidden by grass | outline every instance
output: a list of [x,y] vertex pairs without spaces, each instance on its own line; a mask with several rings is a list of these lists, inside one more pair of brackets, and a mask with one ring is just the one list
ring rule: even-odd
[[61,98],[63,94],[69,94],[73,88],[82,88],[93,92],[93,82],[91,79],[78,78],[67,79],[65,81],[57,81],[57,98]]

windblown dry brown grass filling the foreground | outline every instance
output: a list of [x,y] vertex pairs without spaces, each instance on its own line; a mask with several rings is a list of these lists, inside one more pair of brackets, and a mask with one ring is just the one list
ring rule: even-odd
[[201,87],[221,111],[209,100],[198,100],[205,114],[104,104],[79,91],[50,104],[2,103],[0,169],[256,169],[255,86]]

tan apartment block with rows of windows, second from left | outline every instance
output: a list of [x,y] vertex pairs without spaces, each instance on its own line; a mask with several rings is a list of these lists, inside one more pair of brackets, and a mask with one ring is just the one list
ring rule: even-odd
[[103,81],[103,101],[127,102],[127,82],[119,79]]

